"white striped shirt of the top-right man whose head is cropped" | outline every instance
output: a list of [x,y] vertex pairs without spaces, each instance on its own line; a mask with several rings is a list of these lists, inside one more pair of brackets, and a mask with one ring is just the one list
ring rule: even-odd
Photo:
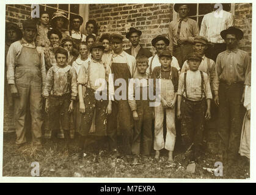
[[234,26],[232,13],[221,10],[220,12],[211,12],[203,16],[200,36],[206,37],[212,43],[224,43],[221,37],[221,31]]

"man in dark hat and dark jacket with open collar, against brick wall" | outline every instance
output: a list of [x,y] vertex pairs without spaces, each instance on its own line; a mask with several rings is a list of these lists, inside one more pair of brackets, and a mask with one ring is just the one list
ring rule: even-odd
[[131,42],[131,48],[126,49],[125,52],[133,55],[133,57],[137,57],[139,55],[145,55],[147,57],[151,57],[152,53],[146,49],[142,48],[142,46],[139,44],[139,40],[141,38],[141,30],[137,30],[134,27],[130,27],[129,32],[126,34],[126,38],[130,40]]

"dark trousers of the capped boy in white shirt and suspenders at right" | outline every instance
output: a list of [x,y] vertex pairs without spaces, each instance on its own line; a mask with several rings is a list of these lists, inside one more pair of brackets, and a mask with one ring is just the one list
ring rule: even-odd
[[191,144],[193,151],[198,153],[203,137],[203,124],[205,122],[206,101],[181,101],[181,140],[188,149]]

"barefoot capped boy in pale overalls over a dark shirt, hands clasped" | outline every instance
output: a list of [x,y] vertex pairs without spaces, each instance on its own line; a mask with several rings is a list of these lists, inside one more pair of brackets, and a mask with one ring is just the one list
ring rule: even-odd
[[[178,90],[178,70],[171,66],[172,54],[169,50],[164,50],[159,54],[161,66],[153,69],[152,79],[160,79],[161,104],[155,107],[155,158],[158,159],[160,150],[165,148],[169,151],[168,161],[173,161],[172,152],[175,145],[175,103]],[[157,83],[155,83],[157,84]],[[156,89],[155,89],[156,90]],[[157,90],[156,90],[157,91]],[[166,113],[166,141],[164,141],[164,114]]]

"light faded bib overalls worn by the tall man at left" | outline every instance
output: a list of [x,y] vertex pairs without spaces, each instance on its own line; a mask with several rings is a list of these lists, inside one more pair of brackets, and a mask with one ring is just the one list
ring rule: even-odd
[[15,98],[16,144],[26,143],[25,119],[27,107],[31,112],[32,142],[41,144],[42,137],[42,74],[37,48],[23,46],[15,68],[15,85],[19,97]]

